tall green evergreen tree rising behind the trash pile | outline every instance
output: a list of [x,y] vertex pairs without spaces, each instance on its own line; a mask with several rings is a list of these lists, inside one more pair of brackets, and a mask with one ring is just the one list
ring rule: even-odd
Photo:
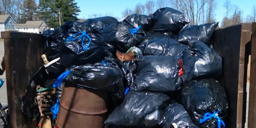
[[81,12],[74,0],[39,0],[39,15],[50,27],[58,27],[58,10],[61,12],[61,23],[78,20]]

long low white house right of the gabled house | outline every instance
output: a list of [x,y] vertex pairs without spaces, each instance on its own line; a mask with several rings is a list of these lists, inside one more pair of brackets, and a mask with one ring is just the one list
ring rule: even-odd
[[42,33],[49,27],[44,21],[26,21],[26,23],[17,23],[15,29],[18,32]]

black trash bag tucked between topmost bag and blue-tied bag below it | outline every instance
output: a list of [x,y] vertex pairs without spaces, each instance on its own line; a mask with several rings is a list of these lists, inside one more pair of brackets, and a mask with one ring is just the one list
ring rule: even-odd
[[128,15],[124,20],[123,23],[131,25],[133,27],[141,26],[144,31],[148,31],[151,28],[151,17],[147,15],[140,15],[140,14],[131,14]]

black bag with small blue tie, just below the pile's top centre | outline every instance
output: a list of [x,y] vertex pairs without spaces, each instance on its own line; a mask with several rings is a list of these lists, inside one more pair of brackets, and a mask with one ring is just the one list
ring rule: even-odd
[[112,23],[101,33],[105,43],[110,44],[120,52],[127,52],[130,47],[137,46],[145,38],[143,30],[137,29],[137,33],[136,31],[135,33],[130,32],[133,29],[133,27],[123,23]]

